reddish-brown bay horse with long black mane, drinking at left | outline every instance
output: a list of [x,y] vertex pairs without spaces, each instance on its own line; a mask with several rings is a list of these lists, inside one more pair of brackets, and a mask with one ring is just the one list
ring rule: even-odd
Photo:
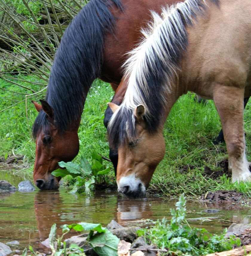
[[[142,37],[140,28],[151,19],[150,10],[160,13],[163,5],[178,1],[92,0],[72,20],[54,58],[46,99],[41,104],[33,101],[39,112],[33,124],[33,179],[39,189],[57,189],[60,178],[51,172],[59,168],[59,161],[71,161],[78,154],[77,131],[94,79],[99,77],[116,90],[125,53]],[[106,114],[105,123],[110,116]],[[116,168],[114,152],[110,157]]]

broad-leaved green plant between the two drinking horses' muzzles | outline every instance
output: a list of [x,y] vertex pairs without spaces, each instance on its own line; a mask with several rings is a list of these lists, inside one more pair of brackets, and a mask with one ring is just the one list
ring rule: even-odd
[[112,182],[106,178],[106,175],[111,171],[110,167],[103,164],[102,157],[97,154],[96,151],[92,153],[91,163],[90,165],[85,157],[81,157],[79,164],[61,161],[58,164],[65,169],[57,169],[51,174],[62,178],[66,175],[71,175],[73,178],[76,178],[71,193],[76,193],[77,191],[81,193],[83,188],[85,189],[85,193],[90,193],[94,185],[100,186],[102,183],[104,183],[106,187],[111,185]]

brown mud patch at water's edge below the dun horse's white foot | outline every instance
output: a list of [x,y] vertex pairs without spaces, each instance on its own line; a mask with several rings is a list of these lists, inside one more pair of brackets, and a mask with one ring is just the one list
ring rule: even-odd
[[206,202],[215,202],[215,203],[235,203],[241,204],[246,203],[247,199],[244,197],[243,193],[232,191],[223,191],[218,190],[215,192],[207,192],[205,195],[201,196],[202,200]]

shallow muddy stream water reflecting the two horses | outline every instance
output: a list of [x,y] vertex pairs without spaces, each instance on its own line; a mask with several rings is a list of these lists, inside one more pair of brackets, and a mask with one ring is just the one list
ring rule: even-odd
[[[20,175],[10,175],[10,171],[0,171],[0,180],[10,181],[17,187],[24,180]],[[170,219],[170,208],[176,200],[158,197],[129,199],[117,192],[95,193],[92,196],[70,194],[61,187],[58,191],[15,192],[0,196],[0,241],[18,240],[19,249],[32,245],[40,251],[40,243],[48,237],[50,227],[56,223],[93,222],[107,225],[115,219],[121,225],[149,225],[149,220],[166,216]],[[206,212],[208,209],[218,211]],[[251,210],[236,205],[216,205],[187,203],[187,218],[190,224],[204,227],[209,232],[218,233],[233,221],[250,222]],[[58,228],[60,233],[60,228]]]

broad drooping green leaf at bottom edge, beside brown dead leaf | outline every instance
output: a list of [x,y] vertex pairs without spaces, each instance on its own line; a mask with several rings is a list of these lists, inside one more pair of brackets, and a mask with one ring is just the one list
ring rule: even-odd
[[114,236],[109,230],[105,233],[98,233],[89,237],[89,244],[98,255],[117,256],[120,239]]

